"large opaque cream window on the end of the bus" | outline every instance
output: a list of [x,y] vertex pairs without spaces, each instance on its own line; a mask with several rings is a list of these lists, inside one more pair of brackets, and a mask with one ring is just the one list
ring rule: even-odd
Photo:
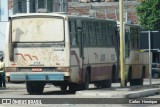
[[12,42],[57,42],[63,40],[62,18],[19,17],[12,20]]

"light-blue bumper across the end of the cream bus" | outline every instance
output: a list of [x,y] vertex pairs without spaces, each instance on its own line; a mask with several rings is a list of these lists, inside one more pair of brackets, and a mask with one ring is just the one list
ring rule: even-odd
[[14,72],[10,81],[63,81],[69,72]]

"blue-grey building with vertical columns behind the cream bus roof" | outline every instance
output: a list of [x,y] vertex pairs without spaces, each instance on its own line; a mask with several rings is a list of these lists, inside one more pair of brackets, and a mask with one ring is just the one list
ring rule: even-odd
[[39,9],[49,12],[66,12],[67,0],[12,0],[13,14],[36,13]]

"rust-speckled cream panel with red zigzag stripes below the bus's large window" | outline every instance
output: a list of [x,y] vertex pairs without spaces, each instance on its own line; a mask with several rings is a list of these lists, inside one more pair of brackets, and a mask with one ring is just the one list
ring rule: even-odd
[[66,50],[63,47],[27,47],[14,48],[14,62],[16,67],[58,67],[69,66]]

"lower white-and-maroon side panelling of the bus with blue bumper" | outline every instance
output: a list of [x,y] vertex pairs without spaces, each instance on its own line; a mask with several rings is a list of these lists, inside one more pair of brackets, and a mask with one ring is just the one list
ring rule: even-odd
[[[114,48],[84,48],[83,70],[91,67],[91,81],[110,80],[112,67],[116,65],[117,57]],[[79,48],[71,48],[71,75],[72,71],[77,78],[72,81],[82,81],[82,60],[79,55]],[[72,77],[72,76],[71,76]]]

